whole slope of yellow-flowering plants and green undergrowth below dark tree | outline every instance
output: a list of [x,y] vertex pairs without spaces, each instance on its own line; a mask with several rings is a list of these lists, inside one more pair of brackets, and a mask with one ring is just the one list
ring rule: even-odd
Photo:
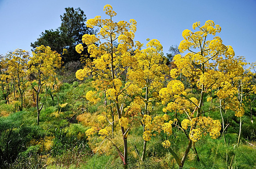
[[82,69],[43,45],[0,57],[0,168],[255,168],[256,63],[212,20],[167,58],[160,41],[133,41],[135,20],[104,11],[75,46],[90,55]]

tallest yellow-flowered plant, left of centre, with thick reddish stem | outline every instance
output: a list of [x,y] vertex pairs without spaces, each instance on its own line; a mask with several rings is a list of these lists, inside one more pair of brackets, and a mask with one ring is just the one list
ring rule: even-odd
[[[124,118],[123,106],[125,100],[126,89],[124,88],[125,79],[122,79],[122,74],[133,67],[136,63],[136,59],[131,55],[131,50],[134,46],[133,37],[136,31],[136,21],[130,20],[114,22],[112,19],[117,13],[112,10],[111,5],[105,5],[104,11],[108,15],[109,19],[101,19],[101,16],[96,16],[94,19],[87,20],[87,27],[93,28],[97,26],[100,28],[100,32],[95,35],[85,34],[82,38],[83,43],[88,46],[88,52],[93,59],[91,62],[87,62],[84,69],[76,72],[76,77],[82,80],[88,74],[92,74],[94,81],[92,85],[96,87],[96,92],[89,91],[86,94],[86,99],[91,102],[98,102],[99,96],[105,96],[107,100],[110,100],[109,106],[115,105],[115,110],[120,122],[120,128],[123,137],[123,153],[117,149],[125,168],[127,168],[128,161],[128,144],[127,137],[131,127],[131,123],[122,123],[127,121],[128,118]],[[102,42],[101,42],[102,41]],[[118,41],[118,46],[114,45],[114,41]],[[97,45],[98,44],[98,45]],[[83,51],[82,44],[76,46],[76,51],[81,53]],[[99,93],[96,96],[96,93]],[[107,101],[105,101],[107,104]],[[113,110],[113,109],[112,109]],[[130,114],[131,121],[135,114]],[[125,119],[125,120],[124,120]],[[112,121],[114,123],[114,121]],[[96,128],[89,129],[91,132],[96,132]],[[90,132],[87,133],[90,133]],[[101,131],[101,132],[100,132]],[[107,136],[109,128],[106,130],[99,130],[99,134]]]

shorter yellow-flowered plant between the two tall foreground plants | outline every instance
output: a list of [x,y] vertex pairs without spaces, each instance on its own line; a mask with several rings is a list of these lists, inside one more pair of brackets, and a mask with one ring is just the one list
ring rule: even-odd
[[[151,117],[154,105],[152,102],[159,103],[158,92],[164,87],[165,74],[169,71],[169,67],[164,64],[164,57],[162,53],[162,45],[156,39],[148,40],[145,49],[135,50],[135,58],[137,63],[133,66],[133,69],[129,69],[127,76],[128,81],[125,86],[126,93],[129,96],[135,97],[131,105],[124,109],[130,110],[135,105],[141,106],[141,115],[144,117],[148,115]],[[143,44],[137,43],[140,49]],[[144,128],[144,137],[147,137],[149,133],[146,123],[142,123]],[[141,160],[145,159],[146,145],[149,139],[144,139],[144,146],[141,156]],[[137,150],[137,149],[136,149]],[[139,151],[137,150],[137,154]]]

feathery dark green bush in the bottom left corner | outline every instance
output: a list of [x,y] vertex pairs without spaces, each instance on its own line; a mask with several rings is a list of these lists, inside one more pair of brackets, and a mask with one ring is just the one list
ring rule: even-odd
[[13,163],[18,154],[26,150],[27,143],[37,135],[37,127],[24,119],[27,112],[0,117],[0,166]]

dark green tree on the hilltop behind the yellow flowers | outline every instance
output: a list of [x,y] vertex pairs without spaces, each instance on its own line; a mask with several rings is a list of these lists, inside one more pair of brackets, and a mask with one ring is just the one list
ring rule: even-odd
[[[86,15],[83,10],[68,7],[65,11],[63,15],[60,15],[61,26],[55,31],[52,29],[42,32],[37,41],[31,43],[31,46],[33,50],[41,45],[50,46],[53,51],[60,53],[62,61],[67,63],[80,60],[80,54],[75,51],[75,46],[82,43],[84,34],[95,34],[95,31],[86,27]],[[66,49],[65,52],[64,49]],[[82,55],[88,55],[86,49]]]

